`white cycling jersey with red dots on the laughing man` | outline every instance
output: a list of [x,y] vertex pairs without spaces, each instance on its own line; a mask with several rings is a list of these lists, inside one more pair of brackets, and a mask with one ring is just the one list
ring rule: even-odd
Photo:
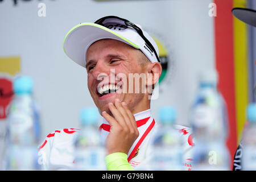
[[[157,127],[155,119],[151,117],[150,109],[142,111],[134,115],[139,131],[139,137],[131,146],[128,153],[128,162],[131,167],[136,169],[150,169],[148,161],[152,156],[154,149],[150,146],[150,139]],[[191,170],[191,148],[193,146],[192,135],[188,127],[175,125],[176,129],[184,139],[184,166]],[[109,123],[103,119],[100,126],[100,137],[105,143],[110,130]],[[74,142],[79,129],[61,129],[47,135],[46,140],[39,147],[39,164],[42,164],[43,169],[58,170],[58,169],[75,169],[74,165]]]

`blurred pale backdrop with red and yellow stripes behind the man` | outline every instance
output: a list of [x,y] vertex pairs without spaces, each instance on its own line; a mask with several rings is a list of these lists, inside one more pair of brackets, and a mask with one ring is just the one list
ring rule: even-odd
[[56,129],[79,127],[79,111],[94,103],[86,70],[65,55],[63,40],[79,23],[116,15],[141,24],[159,46],[164,70],[159,97],[151,102],[156,121],[159,107],[170,105],[177,109],[176,122],[189,126],[198,75],[217,69],[218,89],[228,105],[228,147],[233,156],[246,106],[255,102],[256,82],[256,28],[236,19],[233,7],[256,10],[256,1],[0,1],[0,140],[5,136],[12,82],[18,75],[31,76],[35,82],[42,142]]

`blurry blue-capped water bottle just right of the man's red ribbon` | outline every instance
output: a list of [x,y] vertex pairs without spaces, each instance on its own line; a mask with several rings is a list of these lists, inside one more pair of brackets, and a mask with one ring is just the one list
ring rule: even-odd
[[159,110],[160,125],[155,131],[152,140],[152,170],[180,171],[182,165],[182,140],[175,129],[176,110],[172,107],[162,107]]

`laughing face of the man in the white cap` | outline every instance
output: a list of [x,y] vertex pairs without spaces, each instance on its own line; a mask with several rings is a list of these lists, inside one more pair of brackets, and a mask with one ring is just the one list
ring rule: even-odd
[[[134,93],[135,81],[128,79],[129,73],[146,73],[146,67],[139,64],[138,55],[137,49],[113,39],[98,40],[88,48],[88,89],[100,113],[106,111],[111,114],[108,103],[114,103],[115,98],[126,102],[129,108],[142,101],[144,93]],[[142,87],[141,84],[139,87]],[[111,93],[102,93],[108,88],[112,90]]]

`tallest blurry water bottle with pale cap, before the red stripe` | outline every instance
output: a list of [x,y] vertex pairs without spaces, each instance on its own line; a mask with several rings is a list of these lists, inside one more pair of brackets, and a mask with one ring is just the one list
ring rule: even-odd
[[229,170],[226,147],[228,117],[221,93],[217,90],[217,72],[206,71],[200,77],[199,90],[191,108],[193,142],[192,169]]

